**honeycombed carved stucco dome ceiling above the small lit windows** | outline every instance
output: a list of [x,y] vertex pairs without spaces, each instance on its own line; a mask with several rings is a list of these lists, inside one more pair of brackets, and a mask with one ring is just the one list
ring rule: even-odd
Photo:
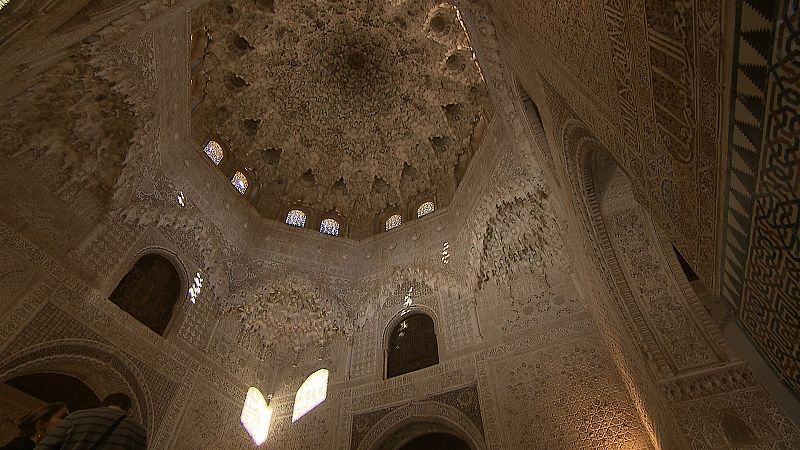
[[455,8],[212,1],[192,27],[210,37],[193,70],[195,144],[218,137],[253,169],[264,216],[299,201],[371,230],[387,209],[449,203],[488,106]]

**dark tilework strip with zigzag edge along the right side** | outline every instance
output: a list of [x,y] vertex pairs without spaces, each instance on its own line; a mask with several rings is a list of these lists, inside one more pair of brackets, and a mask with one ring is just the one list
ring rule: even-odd
[[800,394],[800,1],[739,0],[722,297]]

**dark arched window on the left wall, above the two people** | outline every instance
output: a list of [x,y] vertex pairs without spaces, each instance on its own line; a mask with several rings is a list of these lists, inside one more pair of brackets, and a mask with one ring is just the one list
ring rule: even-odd
[[172,263],[159,255],[145,255],[125,274],[109,298],[147,328],[164,334],[180,291],[180,279]]

